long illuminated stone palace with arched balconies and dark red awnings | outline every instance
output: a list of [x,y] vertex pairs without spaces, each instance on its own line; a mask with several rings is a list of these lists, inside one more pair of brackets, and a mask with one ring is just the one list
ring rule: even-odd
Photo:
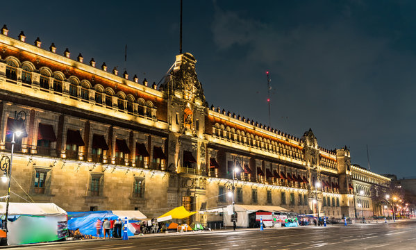
[[[149,85],[93,58],[56,51],[1,29],[1,156],[10,156],[15,114],[26,114],[11,201],[53,202],[68,211],[140,210],[148,217],[176,206],[206,210],[231,204],[225,194],[237,167],[237,204],[302,214],[319,209],[340,218],[360,213],[360,203],[366,216],[381,215],[370,188],[387,187],[390,178],[351,165],[346,147],[320,147],[311,129],[296,138],[208,106],[190,53],[176,56],[163,83]],[[6,192],[5,184],[0,188]]]

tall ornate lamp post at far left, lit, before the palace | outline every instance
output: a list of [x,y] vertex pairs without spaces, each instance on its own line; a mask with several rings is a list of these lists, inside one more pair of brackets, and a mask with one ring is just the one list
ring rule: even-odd
[[[10,153],[10,158],[8,156],[3,156],[0,160],[0,170],[4,172],[3,176],[1,176],[1,181],[6,182],[8,181],[8,188],[7,188],[7,195],[6,195],[6,216],[3,223],[3,229],[6,232],[6,238],[8,233],[7,228],[7,221],[8,221],[8,206],[10,201],[10,182],[12,176],[12,164],[13,164],[13,151],[15,150],[15,137],[26,137],[26,128],[24,127],[24,122],[26,121],[26,113],[24,111],[15,111],[15,119],[13,121],[13,126],[10,129],[12,133],[12,150]],[[3,162],[4,161],[4,162]]]

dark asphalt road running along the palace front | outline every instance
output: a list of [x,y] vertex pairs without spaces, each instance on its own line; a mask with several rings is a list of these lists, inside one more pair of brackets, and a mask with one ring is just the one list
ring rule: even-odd
[[184,233],[130,240],[76,241],[24,249],[416,249],[416,219],[397,223],[307,226],[265,231]]

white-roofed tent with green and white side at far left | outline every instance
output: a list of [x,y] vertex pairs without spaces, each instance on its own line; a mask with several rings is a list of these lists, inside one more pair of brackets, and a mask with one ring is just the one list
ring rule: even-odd
[[[1,219],[6,219],[6,203],[0,203]],[[67,236],[67,212],[54,203],[9,203],[8,244],[28,244],[60,240]]]

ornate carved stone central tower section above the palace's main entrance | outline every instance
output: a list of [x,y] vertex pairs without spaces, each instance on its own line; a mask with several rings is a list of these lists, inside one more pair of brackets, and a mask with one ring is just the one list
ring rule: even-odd
[[[192,54],[179,54],[162,85],[169,126],[168,170],[176,173],[169,180],[168,195],[176,196],[176,205],[188,210],[199,210],[206,199],[204,176],[209,163],[208,141],[204,137],[208,110],[195,70],[196,63]],[[206,221],[203,216],[194,215],[192,219]]]

